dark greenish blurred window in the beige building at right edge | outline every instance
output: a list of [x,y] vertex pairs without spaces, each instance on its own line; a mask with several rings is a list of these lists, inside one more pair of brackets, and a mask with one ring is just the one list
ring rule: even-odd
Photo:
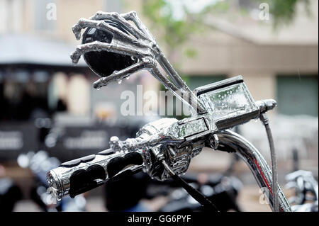
[[278,112],[318,116],[318,76],[278,76]]

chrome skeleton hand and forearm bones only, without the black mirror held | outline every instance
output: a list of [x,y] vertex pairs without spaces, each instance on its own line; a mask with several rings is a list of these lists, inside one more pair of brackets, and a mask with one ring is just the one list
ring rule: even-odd
[[[130,23],[132,21],[133,23]],[[134,25],[135,26],[134,26]],[[203,103],[189,89],[186,83],[179,77],[167,58],[164,56],[155,38],[146,26],[140,21],[135,11],[128,13],[105,13],[98,11],[89,19],[81,18],[72,28],[77,40],[81,38],[81,30],[84,28],[96,28],[113,35],[110,43],[94,41],[79,45],[72,52],[71,59],[74,64],[79,62],[81,55],[86,52],[114,52],[118,55],[128,55],[137,59],[135,64],[120,71],[114,71],[107,77],[101,77],[94,83],[94,88],[100,89],[111,81],[120,81],[141,69],[147,69],[169,91],[191,106],[193,115],[204,113]],[[169,78],[162,74],[159,65],[164,69]]]

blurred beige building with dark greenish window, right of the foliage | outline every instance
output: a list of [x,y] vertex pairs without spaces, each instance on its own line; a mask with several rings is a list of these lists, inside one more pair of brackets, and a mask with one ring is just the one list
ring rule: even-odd
[[192,75],[189,83],[241,74],[255,100],[276,99],[277,113],[318,116],[318,1],[310,9],[308,15],[298,7],[291,25],[279,30],[258,17],[208,17],[206,25],[215,30],[191,40],[198,56],[182,66]]

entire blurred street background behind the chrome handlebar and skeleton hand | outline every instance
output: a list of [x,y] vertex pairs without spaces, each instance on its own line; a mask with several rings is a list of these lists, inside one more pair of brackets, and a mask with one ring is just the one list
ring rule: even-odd
[[[55,209],[43,201],[44,171],[108,148],[113,135],[135,137],[142,125],[159,118],[120,113],[122,91],[136,92],[137,85],[143,92],[163,89],[148,72],[97,91],[92,83],[98,77],[84,60],[72,65],[69,59],[79,45],[71,30],[79,18],[96,11],[132,10],[191,89],[240,74],[255,101],[274,98],[278,106],[269,117],[279,183],[284,187],[286,174],[297,169],[311,171],[318,180],[318,1],[0,0],[2,208],[3,200],[13,211]],[[235,130],[269,162],[259,121]],[[215,181],[211,187],[227,175],[241,210],[270,210],[260,202],[262,193],[248,167],[230,154],[203,149],[187,175],[199,184]],[[166,184],[172,193],[163,193],[166,187],[142,180],[145,193],[135,204],[142,203],[145,210],[174,210],[169,202],[182,193],[178,188]],[[112,210],[107,203],[118,200],[109,196],[120,193],[114,190],[96,188],[62,210]],[[6,193],[11,193],[9,200]],[[284,193],[292,196],[293,191],[284,188]]]

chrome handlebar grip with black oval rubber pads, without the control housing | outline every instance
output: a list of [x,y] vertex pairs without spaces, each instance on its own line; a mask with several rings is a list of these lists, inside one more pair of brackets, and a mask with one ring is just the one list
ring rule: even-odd
[[71,198],[106,181],[116,181],[135,174],[142,169],[142,152],[113,152],[106,149],[98,154],[62,163],[47,172],[47,182],[52,187],[52,196],[60,200],[63,196]]

